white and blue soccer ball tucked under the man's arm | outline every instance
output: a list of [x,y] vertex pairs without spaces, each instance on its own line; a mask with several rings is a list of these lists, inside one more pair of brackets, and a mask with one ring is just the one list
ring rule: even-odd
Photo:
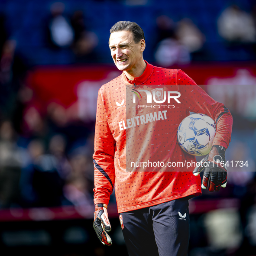
[[185,117],[178,126],[178,144],[190,155],[207,155],[212,147],[216,123],[205,114]]

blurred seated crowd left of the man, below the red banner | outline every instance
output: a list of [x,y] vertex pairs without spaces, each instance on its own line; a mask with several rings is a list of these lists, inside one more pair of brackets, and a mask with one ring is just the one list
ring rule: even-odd
[[64,134],[21,138],[10,120],[3,121],[0,207],[92,206],[92,150],[92,135],[67,152]]

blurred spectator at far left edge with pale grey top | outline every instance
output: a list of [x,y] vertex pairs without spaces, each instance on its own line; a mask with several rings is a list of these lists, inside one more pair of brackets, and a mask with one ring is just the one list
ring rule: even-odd
[[19,203],[19,178],[21,149],[16,144],[12,123],[4,121],[0,126],[0,207]]

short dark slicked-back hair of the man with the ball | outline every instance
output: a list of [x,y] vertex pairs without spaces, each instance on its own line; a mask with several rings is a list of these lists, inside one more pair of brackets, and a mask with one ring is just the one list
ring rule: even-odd
[[110,34],[118,31],[130,31],[133,33],[133,40],[137,44],[141,39],[145,40],[143,29],[135,22],[119,21],[110,29]]

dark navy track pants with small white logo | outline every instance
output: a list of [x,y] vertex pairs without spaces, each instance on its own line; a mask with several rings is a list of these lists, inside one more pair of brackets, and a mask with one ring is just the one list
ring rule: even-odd
[[186,198],[120,215],[129,256],[187,256],[189,215]]

